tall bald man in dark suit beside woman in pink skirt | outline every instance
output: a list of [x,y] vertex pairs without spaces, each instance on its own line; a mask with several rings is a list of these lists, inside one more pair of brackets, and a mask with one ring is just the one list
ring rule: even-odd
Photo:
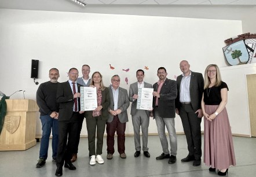
[[188,156],[182,162],[193,161],[193,166],[201,164],[201,121],[203,117],[201,100],[204,80],[202,73],[190,71],[188,61],[180,62],[183,73],[177,77],[178,96],[175,100],[176,113],[180,115],[188,143]]

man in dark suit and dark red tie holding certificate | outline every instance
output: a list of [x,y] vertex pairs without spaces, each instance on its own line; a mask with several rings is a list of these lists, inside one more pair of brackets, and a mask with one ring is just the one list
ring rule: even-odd
[[[71,163],[72,152],[74,152],[77,130],[78,117],[80,109],[81,85],[76,83],[78,70],[71,68],[68,71],[69,80],[60,83],[57,89],[57,102],[60,104],[58,113],[58,152],[57,152],[57,170],[55,175],[63,175],[62,167],[71,170],[76,167]],[[68,142],[67,142],[68,138]],[[64,164],[65,161],[65,164]]]

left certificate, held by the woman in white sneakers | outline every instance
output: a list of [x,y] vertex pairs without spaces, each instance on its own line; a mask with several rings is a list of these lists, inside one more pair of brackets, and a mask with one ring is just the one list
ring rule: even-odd
[[94,110],[97,108],[96,87],[80,87],[80,93],[81,111]]

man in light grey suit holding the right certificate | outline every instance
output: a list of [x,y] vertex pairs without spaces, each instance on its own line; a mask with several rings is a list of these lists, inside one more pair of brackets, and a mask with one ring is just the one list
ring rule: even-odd
[[142,131],[142,150],[146,157],[150,157],[148,152],[148,126],[149,126],[149,110],[137,109],[137,98],[138,98],[138,88],[152,88],[152,84],[144,82],[144,71],[138,69],[136,72],[136,78],[138,82],[130,84],[129,89],[129,99],[131,102],[131,118],[133,120],[133,130],[134,130],[134,144],[135,150],[134,157],[140,156],[141,143],[140,143],[140,126]]

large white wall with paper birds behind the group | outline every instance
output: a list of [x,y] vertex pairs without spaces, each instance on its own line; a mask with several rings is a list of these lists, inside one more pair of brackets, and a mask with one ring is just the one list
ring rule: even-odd
[[[117,73],[122,79],[120,86],[129,90],[129,84],[136,82],[137,69],[144,66],[149,67],[145,81],[152,84],[158,80],[158,67],[166,67],[170,79],[180,75],[181,60],[188,60],[196,72],[204,72],[210,63],[225,67],[224,40],[242,34],[239,20],[8,9],[1,9],[0,16],[0,90],[6,95],[25,90],[28,99],[35,99],[38,89],[30,78],[31,59],[39,60],[39,83],[49,80],[47,73],[52,67],[60,70],[59,81],[64,82],[68,69],[76,67],[80,71],[83,64],[89,64],[91,73],[103,73],[106,86]],[[115,69],[109,69],[109,64]],[[127,68],[129,72],[122,71]],[[125,83],[126,77],[129,84]],[[12,98],[23,98],[23,94]],[[178,116],[176,129],[183,132]],[[83,126],[82,134],[85,130]],[[240,132],[233,133],[236,131]],[[152,120],[149,133],[156,132]],[[36,133],[41,133],[39,120]],[[133,134],[131,121],[126,133]]]

